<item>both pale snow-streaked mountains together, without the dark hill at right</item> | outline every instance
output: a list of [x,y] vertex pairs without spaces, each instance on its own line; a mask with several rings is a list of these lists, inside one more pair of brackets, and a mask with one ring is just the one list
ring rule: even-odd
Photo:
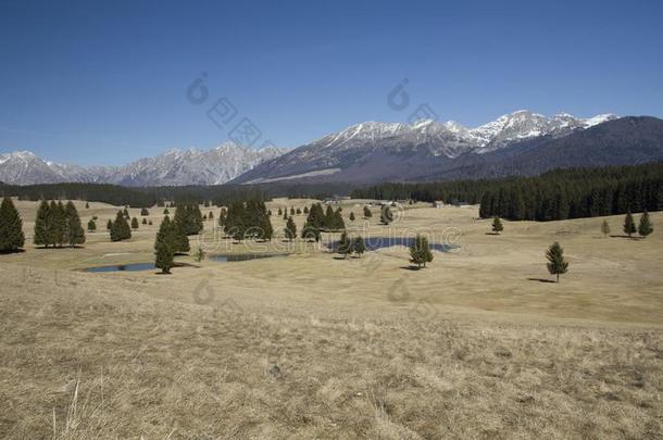
[[218,185],[277,181],[302,176],[354,174],[398,179],[399,168],[416,171],[466,153],[498,151],[527,139],[561,137],[616,118],[612,114],[578,118],[566,113],[548,117],[521,110],[476,128],[449,121],[414,124],[365,122],[286,152],[254,150],[225,142],[212,150],[170,150],[123,166],[82,167],[45,162],[30,152],[0,155],[0,181],[108,183],[125,186]]

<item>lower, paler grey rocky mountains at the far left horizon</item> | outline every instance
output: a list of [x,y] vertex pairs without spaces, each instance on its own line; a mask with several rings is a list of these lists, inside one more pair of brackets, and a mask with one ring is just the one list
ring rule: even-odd
[[103,183],[124,186],[183,186],[224,184],[286,150],[255,150],[225,142],[212,150],[170,150],[123,166],[82,167],[47,162],[29,151],[0,154],[0,180],[8,184],[60,181]]

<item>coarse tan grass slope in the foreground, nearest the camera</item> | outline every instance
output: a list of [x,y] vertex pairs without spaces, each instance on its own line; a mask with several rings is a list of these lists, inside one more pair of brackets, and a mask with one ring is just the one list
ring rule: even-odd
[[663,436],[660,330],[197,305],[51,274],[0,266],[3,438]]

